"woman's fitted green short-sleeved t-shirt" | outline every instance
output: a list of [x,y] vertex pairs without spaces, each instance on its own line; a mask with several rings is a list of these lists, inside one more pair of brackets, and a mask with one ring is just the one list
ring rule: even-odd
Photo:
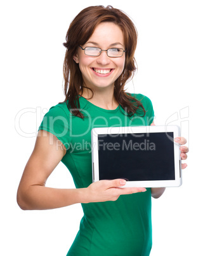
[[[67,148],[62,162],[72,174],[75,187],[92,183],[91,129],[129,125],[150,125],[154,110],[148,97],[133,94],[143,104],[146,114],[128,117],[121,106],[105,110],[79,98],[85,118],[73,116],[66,103],[49,109],[39,130],[62,141]],[[152,248],[151,190],[120,196],[117,201],[82,204],[84,217],[67,256],[148,256]]]

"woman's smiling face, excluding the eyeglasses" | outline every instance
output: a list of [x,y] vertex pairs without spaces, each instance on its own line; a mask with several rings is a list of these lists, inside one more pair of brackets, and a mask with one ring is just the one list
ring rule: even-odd
[[[98,47],[102,50],[108,48],[123,48],[124,36],[118,25],[112,22],[99,24],[88,41],[81,45]],[[107,52],[101,52],[100,56],[93,57],[84,54],[84,50],[78,47],[74,60],[79,64],[84,84],[95,90],[105,90],[114,87],[114,82],[121,75],[125,64],[125,53],[122,57],[108,57]]]

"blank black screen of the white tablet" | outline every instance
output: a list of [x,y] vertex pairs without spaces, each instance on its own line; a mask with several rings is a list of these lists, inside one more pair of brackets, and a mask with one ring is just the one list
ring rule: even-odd
[[99,179],[174,180],[173,138],[173,132],[99,134]]

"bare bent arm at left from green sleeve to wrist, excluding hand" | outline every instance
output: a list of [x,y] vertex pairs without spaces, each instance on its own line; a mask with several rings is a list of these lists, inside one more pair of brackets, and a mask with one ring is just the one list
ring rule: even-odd
[[[79,202],[81,190],[76,192],[72,189],[45,187],[48,176],[63,155],[65,155],[65,147],[56,136],[46,131],[38,132],[36,145],[25,166],[18,187],[17,202],[20,208],[23,210],[45,210]],[[72,193],[74,193],[74,197]]]

